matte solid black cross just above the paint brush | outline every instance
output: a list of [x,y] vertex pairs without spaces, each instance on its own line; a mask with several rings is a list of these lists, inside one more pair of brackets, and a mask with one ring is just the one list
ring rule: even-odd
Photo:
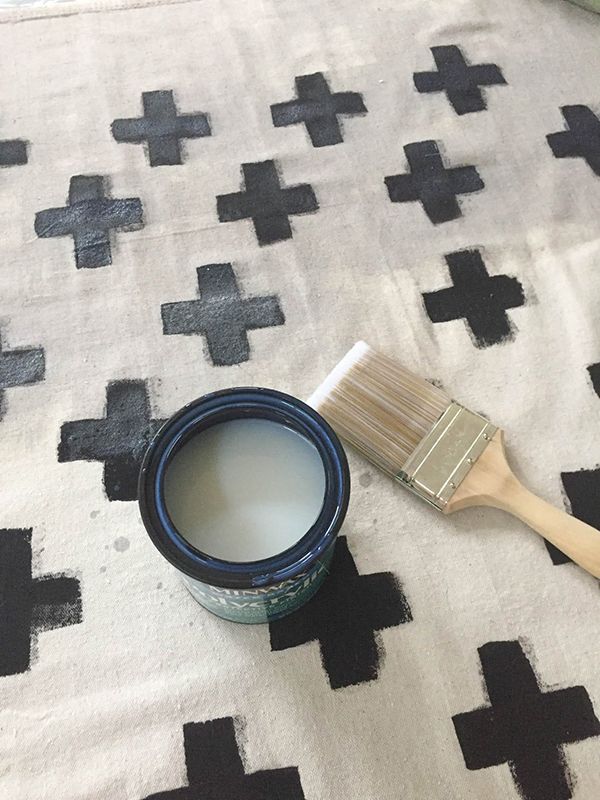
[[508,275],[489,275],[478,250],[448,253],[445,259],[454,286],[423,294],[429,319],[464,319],[476,347],[511,340],[515,327],[506,310],[525,304],[519,281]]

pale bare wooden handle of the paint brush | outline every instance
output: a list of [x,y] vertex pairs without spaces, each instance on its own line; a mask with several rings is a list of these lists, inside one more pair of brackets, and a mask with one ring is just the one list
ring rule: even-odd
[[468,506],[508,511],[558,547],[576,564],[600,578],[600,531],[559,511],[526,489],[510,469],[498,431],[446,506],[446,513]]

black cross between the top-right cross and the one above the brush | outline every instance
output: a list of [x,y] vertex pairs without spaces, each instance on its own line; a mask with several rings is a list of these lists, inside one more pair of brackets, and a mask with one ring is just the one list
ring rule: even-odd
[[385,180],[392,203],[419,201],[429,219],[438,225],[462,216],[458,195],[483,189],[475,167],[446,167],[437,142],[404,145],[410,172],[388,175]]

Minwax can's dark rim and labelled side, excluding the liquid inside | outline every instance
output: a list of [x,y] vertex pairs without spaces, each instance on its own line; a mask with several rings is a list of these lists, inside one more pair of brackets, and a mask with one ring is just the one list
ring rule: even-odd
[[[215,425],[242,419],[268,420],[303,437],[318,452],[325,482],[316,520],[292,546],[268,558],[238,562],[202,552],[181,535],[165,502],[165,476],[186,443]],[[346,455],[331,427],[301,400],[263,388],[214,392],[178,411],[151,442],[138,487],[146,530],[182,573],[193,597],[217,616],[244,623],[278,619],[313,596],[327,575],[349,496]]]

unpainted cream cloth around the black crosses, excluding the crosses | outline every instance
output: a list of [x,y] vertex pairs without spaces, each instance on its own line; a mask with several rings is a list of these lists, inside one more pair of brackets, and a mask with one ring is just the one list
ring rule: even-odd
[[[306,397],[364,338],[502,425],[518,471],[561,505],[560,472],[599,460],[586,367],[600,360],[600,179],[555,159],[545,137],[563,128],[561,105],[600,111],[600,19],[559,0],[17,14],[0,18],[0,134],[31,144],[29,163],[1,175],[0,316],[5,346],[44,348],[46,378],[7,392],[0,525],[33,528],[37,574],[80,578],[83,622],[41,634],[31,670],[0,678],[0,795],[134,800],[186,785],[182,725],[236,716],[247,771],[298,766],[306,798],[516,798],[506,765],[466,770],[452,726],[487,703],[477,647],[520,638],[545,686],[583,684],[598,713],[597,581],[553,566],[500,512],[444,519],[350,454],[344,532],[358,569],[394,572],[414,621],[383,632],[378,680],[332,691],[316,644],[271,653],[266,626],[200,609],[136,504],[107,501],[102,465],[60,464],[56,448],[65,421],[103,416],[111,380],[147,378],[155,417],[226,386]],[[500,66],[508,85],[487,91],[487,111],[460,117],[445,95],[416,92],[435,44]],[[294,76],[316,71],[368,108],[336,147],[270,119]],[[185,143],[182,166],[150,168],[142,147],[111,137],[153,89],[210,114],[212,137]],[[424,139],[485,182],[438,226],[417,203],[390,203],[383,183],[406,171],[402,146]],[[249,221],[218,222],[215,197],[238,190],[242,162],[268,158],[287,185],[310,183],[320,210],[259,247]],[[78,174],[107,175],[113,197],[144,207],[145,227],[117,234],[101,269],[76,270],[69,237],[33,230]],[[463,321],[425,315],[421,293],[450,283],[444,254],[466,247],[524,286],[513,342],[479,350]],[[217,368],[202,337],[163,335],[160,307],[196,297],[195,269],[227,261],[246,295],[279,296],[286,324],[251,332],[250,360]],[[599,748],[566,747],[578,800],[600,793]]]

